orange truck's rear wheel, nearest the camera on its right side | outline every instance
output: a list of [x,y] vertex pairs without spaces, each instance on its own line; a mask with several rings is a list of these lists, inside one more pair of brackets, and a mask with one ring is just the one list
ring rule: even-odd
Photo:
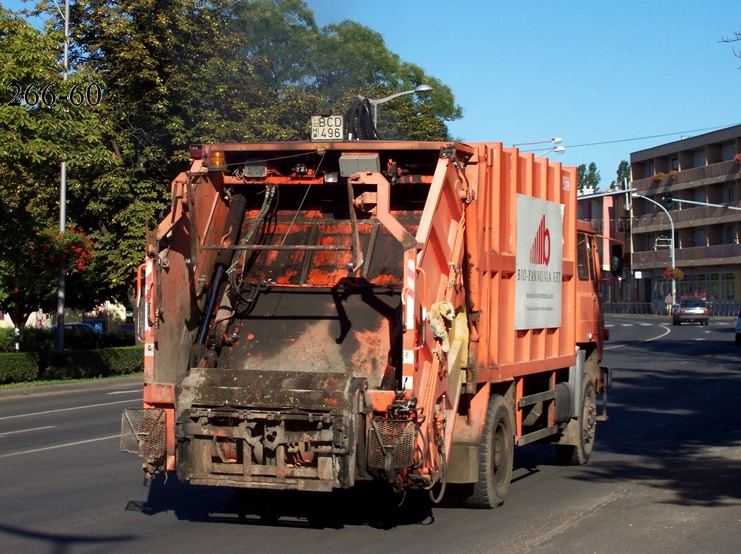
[[512,478],[514,432],[512,414],[505,399],[489,398],[486,421],[479,444],[479,481],[465,505],[472,508],[494,508],[504,504]]

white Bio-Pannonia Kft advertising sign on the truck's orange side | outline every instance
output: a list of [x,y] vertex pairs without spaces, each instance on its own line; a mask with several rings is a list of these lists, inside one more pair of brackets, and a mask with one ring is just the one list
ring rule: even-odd
[[561,327],[563,206],[517,195],[516,330]]

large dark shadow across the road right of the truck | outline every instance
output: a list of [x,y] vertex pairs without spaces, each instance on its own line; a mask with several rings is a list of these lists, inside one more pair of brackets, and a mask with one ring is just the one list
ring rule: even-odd
[[741,349],[652,341],[622,354],[637,367],[613,367],[610,420],[597,439],[597,450],[620,461],[590,464],[575,478],[639,481],[671,493],[668,504],[741,505]]

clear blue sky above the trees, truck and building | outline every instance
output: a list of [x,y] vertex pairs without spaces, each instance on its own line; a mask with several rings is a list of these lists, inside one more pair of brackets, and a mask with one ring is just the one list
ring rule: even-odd
[[[741,30],[738,0],[307,3],[320,25],[371,27],[451,87],[463,108],[449,125],[456,138],[561,137],[566,151],[551,157],[594,161],[602,187],[631,152],[741,124],[741,59],[720,43]],[[657,135],[667,136],[625,141]],[[594,144],[609,141],[621,142]]]

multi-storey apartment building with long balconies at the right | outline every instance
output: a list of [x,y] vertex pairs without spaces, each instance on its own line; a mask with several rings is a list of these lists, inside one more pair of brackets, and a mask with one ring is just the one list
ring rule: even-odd
[[741,300],[739,153],[741,125],[631,153],[637,194],[662,206],[671,196],[671,222],[653,202],[631,198],[634,300],[657,303],[671,290],[664,272],[672,224],[675,266],[684,273],[677,296]]

